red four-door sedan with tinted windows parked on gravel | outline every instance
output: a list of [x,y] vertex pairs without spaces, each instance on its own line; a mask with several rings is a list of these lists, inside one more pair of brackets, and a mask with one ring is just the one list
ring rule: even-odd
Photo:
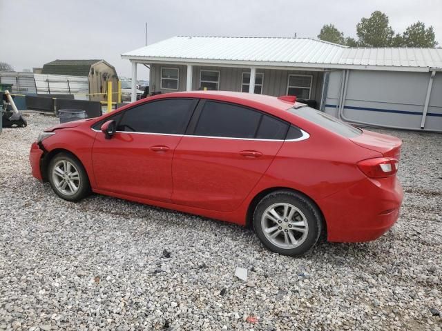
[[176,92],[45,130],[32,174],[62,199],[90,192],[253,225],[298,255],[320,234],[370,241],[398,219],[401,140],[294,97]]

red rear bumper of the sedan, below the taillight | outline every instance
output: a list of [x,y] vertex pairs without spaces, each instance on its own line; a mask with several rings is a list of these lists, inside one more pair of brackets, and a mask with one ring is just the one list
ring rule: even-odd
[[403,190],[396,176],[364,179],[318,201],[327,221],[327,239],[361,242],[378,239],[399,217]]

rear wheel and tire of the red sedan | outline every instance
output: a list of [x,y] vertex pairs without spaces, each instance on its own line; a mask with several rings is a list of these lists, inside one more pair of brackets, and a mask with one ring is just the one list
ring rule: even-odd
[[314,247],[322,224],[316,205],[291,191],[267,194],[253,213],[253,228],[260,241],[272,252],[292,257]]

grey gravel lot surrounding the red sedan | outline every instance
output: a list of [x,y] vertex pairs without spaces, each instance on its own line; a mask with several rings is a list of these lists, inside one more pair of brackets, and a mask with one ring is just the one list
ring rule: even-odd
[[26,119],[0,135],[0,330],[441,330],[441,134],[378,130],[404,142],[398,223],[294,259],[237,225],[59,199],[28,162],[57,119]]

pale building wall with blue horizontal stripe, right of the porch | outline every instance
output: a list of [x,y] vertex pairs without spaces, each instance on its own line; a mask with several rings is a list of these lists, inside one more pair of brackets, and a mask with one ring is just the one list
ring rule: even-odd
[[[343,71],[330,73],[325,112],[341,119],[374,126],[421,130],[431,72],[348,70],[347,88],[341,89]],[[344,80],[345,81],[345,80]],[[436,72],[423,130],[442,131],[442,72]]]

